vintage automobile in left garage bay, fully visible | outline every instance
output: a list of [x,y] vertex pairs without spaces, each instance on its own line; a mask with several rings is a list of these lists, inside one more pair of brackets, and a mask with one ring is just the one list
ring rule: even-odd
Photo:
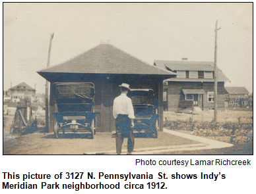
[[92,109],[94,103],[94,84],[89,82],[56,82],[53,84],[57,111],[55,118],[57,127],[54,128],[55,137],[59,130],[89,131],[93,139],[96,134],[96,114]]

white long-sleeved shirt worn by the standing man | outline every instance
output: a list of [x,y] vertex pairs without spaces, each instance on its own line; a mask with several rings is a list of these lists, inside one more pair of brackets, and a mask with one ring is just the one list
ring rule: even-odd
[[118,114],[128,114],[129,118],[135,118],[133,104],[125,93],[121,93],[113,100],[113,117],[117,118]]

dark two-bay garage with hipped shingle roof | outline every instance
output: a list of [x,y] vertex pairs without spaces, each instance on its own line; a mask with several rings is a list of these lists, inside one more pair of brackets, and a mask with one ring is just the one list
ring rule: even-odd
[[57,127],[54,112],[57,110],[53,83],[92,82],[95,85],[93,109],[96,112],[97,132],[115,131],[113,99],[120,95],[119,85],[127,83],[132,89],[154,89],[154,105],[160,116],[159,128],[163,128],[163,80],[173,78],[175,73],[147,64],[117,49],[102,43],[79,56],[61,64],[38,71],[50,82],[49,132]]

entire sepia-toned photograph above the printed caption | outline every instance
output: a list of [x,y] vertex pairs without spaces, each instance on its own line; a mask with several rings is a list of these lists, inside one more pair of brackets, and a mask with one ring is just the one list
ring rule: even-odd
[[253,3],[3,3],[3,155],[253,155]]

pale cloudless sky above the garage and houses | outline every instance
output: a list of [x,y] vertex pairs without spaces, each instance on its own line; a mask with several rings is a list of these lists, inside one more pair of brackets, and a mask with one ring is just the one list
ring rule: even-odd
[[3,89],[25,82],[44,93],[50,66],[110,41],[148,64],[214,61],[225,86],[253,92],[253,3],[3,3]]

